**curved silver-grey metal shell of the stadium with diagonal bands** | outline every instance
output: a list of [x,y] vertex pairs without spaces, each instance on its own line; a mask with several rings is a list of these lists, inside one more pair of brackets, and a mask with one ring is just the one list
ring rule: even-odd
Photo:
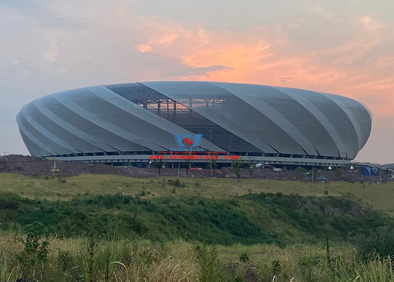
[[205,81],[100,85],[51,94],[17,122],[33,156],[151,154],[174,134],[202,134],[208,151],[350,160],[367,141],[369,109],[308,90]]

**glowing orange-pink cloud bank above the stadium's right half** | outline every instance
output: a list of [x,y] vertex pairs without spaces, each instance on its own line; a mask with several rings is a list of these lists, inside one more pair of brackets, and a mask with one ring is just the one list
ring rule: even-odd
[[[327,14],[327,18],[344,24],[332,15]],[[295,46],[289,39],[290,31],[278,26],[236,33],[197,26],[185,28],[157,17],[140,19],[142,38],[149,46],[154,46],[158,54],[179,59],[191,68],[229,67],[206,71],[202,75],[179,75],[176,79],[259,83],[323,91],[358,99],[371,108],[374,116],[394,117],[391,109],[394,105],[394,60],[378,51],[387,43],[386,35],[391,29],[371,16],[348,19],[346,24],[354,32],[344,42],[312,50]]]

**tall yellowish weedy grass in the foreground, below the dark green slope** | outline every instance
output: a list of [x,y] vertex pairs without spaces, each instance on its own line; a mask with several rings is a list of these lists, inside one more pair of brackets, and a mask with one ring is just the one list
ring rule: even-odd
[[[0,245],[0,281],[23,278],[16,259],[21,243],[0,233]],[[345,255],[338,253],[344,249]],[[249,252],[247,260],[241,259],[245,252]],[[335,258],[328,262],[323,245],[281,249],[273,245],[207,246],[182,239],[156,243],[114,235],[51,237],[47,260],[24,278],[53,282],[394,282],[390,256],[374,255],[363,261],[350,253],[350,247],[333,246]]]

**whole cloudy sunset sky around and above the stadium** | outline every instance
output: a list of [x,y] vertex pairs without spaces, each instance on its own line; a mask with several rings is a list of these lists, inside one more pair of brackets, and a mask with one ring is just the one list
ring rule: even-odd
[[0,151],[15,116],[72,88],[207,80],[309,89],[370,108],[356,160],[394,163],[393,0],[0,0]]

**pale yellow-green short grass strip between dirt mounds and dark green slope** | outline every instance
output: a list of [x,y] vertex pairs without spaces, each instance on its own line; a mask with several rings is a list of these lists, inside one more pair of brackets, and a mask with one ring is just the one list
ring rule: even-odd
[[201,196],[207,198],[226,198],[249,193],[299,194],[303,196],[351,194],[374,209],[394,215],[394,182],[377,184],[370,182],[332,181],[329,183],[310,183],[300,181],[277,181],[260,179],[192,178],[181,177],[185,187],[168,185],[175,177],[131,178],[113,175],[83,174],[64,178],[45,176],[23,176],[19,174],[0,174],[0,192],[12,192],[22,197],[45,198],[47,200],[68,200],[76,195],[115,194],[137,195],[145,191],[142,198],[160,196]]

